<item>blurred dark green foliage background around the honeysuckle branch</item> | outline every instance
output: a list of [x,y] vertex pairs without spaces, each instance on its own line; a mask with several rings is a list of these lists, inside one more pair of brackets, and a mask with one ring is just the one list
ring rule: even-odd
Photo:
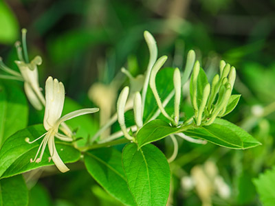
[[[189,49],[195,49],[209,78],[218,71],[219,60],[229,62],[238,75],[234,93],[242,98],[225,118],[263,146],[236,151],[179,140],[169,203],[201,205],[198,192],[188,191],[182,182],[195,165],[212,161],[231,190],[226,200],[212,194],[213,205],[260,205],[252,179],[275,163],[274,11],[274,0],[0,0],[0,56],[16,69],[13,45],[21,39],[21,28],[27,28],[30,58],[43,58],[41,86],[47,76],[58,78],[67,96],[83,106],[93,104],[87,96],[91,85],[109,84],[121,67],[133,76],[144,73],[144,30],[155,36],[159,56],[168,55],[168,66],[182,68]],[[170,156],[169,139],[159,147]],[[31,190],[30,205],[41,198],[45,205],[120,205],[84,171],[39,182]]]

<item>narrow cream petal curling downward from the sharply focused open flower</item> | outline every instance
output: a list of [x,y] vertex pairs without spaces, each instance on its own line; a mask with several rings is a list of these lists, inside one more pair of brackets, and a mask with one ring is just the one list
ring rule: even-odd
[[61,172],[67,172],[69,171],[69,168],[63,163],[62,159],[59,157],[56,146],[54,144],[54,135],[51,135],[49,137],[49,141],[47,142],[47,145],[49,146],[50,155],[52,157],[52,161],[54,161],[54,164],[60,170]]

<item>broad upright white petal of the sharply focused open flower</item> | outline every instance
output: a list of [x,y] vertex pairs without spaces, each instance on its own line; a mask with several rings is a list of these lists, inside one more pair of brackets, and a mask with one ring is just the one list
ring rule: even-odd
[[65,100],[65,89],[62,82],[58,82],[50,76],[47,78],[45,86],[45,115],[44,127],[49,130],[56,121],[61,117],[63,111],[63,104]]

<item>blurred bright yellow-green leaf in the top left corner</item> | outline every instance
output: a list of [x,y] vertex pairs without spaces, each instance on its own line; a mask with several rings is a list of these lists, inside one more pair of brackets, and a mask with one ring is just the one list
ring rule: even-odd
[[10,44],[17,41],[19,24],[5,1],[0,1],[0,19],[0,43]]

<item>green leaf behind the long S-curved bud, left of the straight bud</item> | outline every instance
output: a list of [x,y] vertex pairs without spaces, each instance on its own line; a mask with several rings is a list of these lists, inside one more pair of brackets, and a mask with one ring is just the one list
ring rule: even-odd
[[[159,93],[159,98],[164,101],[168,94],[173,91],[174,85],[173,85],[173,74],[174,74],[174,68],[164,68],[161,69],[155,78],[155,84],[157,87],[157,91]],[[170,84],[167,84],[167,82],[170,81]],[[144,106],[144,122],[148,122],[148,120],[155,114],[155,112],[158,109],[157,102],[155,101],[155,97],[153,95],[153,92],[151,89],[148,88],[147,94],[146,94],[146,100],[145,100],[145,106]],[[165,107],[166,112],[170,115],[170,111],[174,111],[174,102],[173,100],[170,100],[168,104]],[[169,109],[171,108],[171,109]],[[162,115],[160,115],[162,116]],[[159,116],[159,117],[160,117]],[[166,119],[166,118],[165,118]]]

